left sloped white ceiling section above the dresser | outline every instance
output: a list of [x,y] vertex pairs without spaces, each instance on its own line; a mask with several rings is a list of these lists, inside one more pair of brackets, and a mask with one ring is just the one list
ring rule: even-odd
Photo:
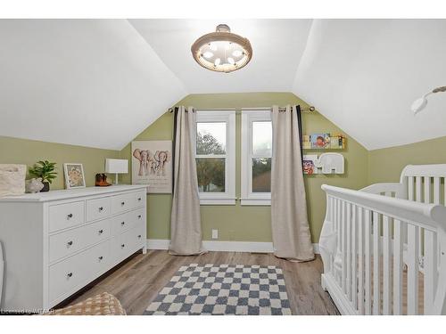
[[183,98],[128,20],[0,20],[0,135],[122,149]]

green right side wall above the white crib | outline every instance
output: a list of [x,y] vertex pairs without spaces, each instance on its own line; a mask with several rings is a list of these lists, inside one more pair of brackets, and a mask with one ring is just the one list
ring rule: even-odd
[[446,163],[446,137],[369,151],[368,183],[398,182],[407,165]]

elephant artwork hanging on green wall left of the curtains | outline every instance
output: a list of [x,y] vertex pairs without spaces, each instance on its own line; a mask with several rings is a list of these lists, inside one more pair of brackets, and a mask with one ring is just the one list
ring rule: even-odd
[[149,193],[172,192],[172,142],[132,142],[132,183],[148,184]]

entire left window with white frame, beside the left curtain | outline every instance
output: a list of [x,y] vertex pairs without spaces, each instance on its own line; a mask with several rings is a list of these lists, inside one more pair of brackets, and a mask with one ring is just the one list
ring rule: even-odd
[[235,204],[235,111],[197,111],[195,161],[201,204]]

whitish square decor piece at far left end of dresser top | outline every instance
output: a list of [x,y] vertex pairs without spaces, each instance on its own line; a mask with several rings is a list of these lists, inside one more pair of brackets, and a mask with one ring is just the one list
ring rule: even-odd
[[0,197],[25,193],[26,165],[0,164]]

